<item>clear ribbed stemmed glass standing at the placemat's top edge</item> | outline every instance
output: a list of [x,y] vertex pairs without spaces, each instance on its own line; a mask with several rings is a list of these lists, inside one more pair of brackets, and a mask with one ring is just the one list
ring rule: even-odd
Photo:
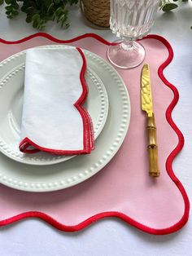
[[107,51],[108,59],[119,68],[137,67],[145,58],[145,49],[137,39],[154,24],[159,0],[111,0],[110,29],[122,39]]

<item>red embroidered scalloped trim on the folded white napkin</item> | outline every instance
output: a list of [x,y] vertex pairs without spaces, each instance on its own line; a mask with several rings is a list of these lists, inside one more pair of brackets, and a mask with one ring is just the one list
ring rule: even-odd
[[[93,137],[93,128],[92,122],[90,122],[89,114],[85,111],[85,109],[82,107],[82,104],[84,103],[86,96],[88,94],[87,84],[85,82],[85,71],[86,71],[86,60],[83,52],[80,48],[76,47],[76,50],[80,53],[83,64],[81,67],[81,73],[80,73],[80,81],[82,86],[82,93],[79,99],[76,100],[76,103],[74,106],[79,111],[82,117],[83,121],[83,149],[81,150],[59,150],[59,149],[53,149],[53,148],[44,148],[38,145],[37,143],[34,143],[31,139],[28,137],[25,137],[20,142],[20,151],[24,153],[30,153],[33,154],[35,152],[43,151],[43,152],[50,152],[52,154],[59,154],[59,155],[81,155],[85,153],[90,153],[91,150],[94,148],[94,137]],[[33,149],[28,149],[31,146],[33,146]]]

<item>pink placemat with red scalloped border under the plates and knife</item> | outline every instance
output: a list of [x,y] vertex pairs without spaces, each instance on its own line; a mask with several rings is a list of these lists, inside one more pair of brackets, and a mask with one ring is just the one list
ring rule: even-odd
[[[29,47],[57,43],[93,51],[107,60],[107,46],[110,45],[95,34],[62,41],[46,33],[37,33],[17,42],[2,39],[0,42],[1,61]],[[144,232],[157,235],[176,232],[185,225],[190,203],[172,171],[172,161],[184,144],[183,135],[171,117],[179,95],[176,87],[163,75],[173,57],[172,47],[156,35],[141,42],[146,48],[145,62],[151,66],[158,127],[159,179],[148,176],[146,117],[140,109],[142,65],[132,70],[117,68],[129,90],[132,109],[129,131],[119,152],[92,178],[58,192],[22,192],[0,185],[0,225],[37,217],[60,230],[74,232],[99,218],[118,217]]]

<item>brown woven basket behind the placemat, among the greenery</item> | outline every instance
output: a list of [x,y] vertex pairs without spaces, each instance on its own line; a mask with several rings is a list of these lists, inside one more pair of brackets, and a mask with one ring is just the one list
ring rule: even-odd
[[81,0],[81,10],[87,20],[101,27],[109,27],[110,0]]

